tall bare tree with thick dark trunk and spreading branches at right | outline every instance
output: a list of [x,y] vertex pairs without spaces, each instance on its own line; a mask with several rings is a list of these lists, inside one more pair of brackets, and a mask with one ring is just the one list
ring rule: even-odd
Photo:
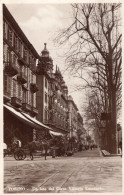
[[[121,103],[121,4],[72,4],[73,23],[59,35],[72,42],[67,63],[86,84],[99,89],[110,119],[110,152],[117,152],[117,107]],[[87,70],[90,81],[82,76]],[[94,85],[95,84],[95,85]]]

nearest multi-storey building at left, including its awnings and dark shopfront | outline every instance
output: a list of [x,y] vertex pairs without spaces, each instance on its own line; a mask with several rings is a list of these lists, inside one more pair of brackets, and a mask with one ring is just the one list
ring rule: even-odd
[[[38,53],[3,5],[4,141],[14,137],[33,140],[34,128],[44,127],[36,119],[36,59]],[[47,127],[46,127],[47,128]]]

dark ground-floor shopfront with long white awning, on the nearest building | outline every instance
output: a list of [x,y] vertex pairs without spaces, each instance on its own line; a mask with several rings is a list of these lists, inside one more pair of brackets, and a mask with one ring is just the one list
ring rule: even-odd
[[7,146],[11,145],[15,139],[20,140],[24,146],[28,142],[37,140],[38,135],[45,137],[49,130],[52,129],[33,117],[4,105],[4,143]]

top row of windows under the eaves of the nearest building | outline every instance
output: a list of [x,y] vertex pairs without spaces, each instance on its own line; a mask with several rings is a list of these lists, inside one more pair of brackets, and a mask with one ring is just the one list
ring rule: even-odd
[[28,48],[5,20],[3,21],[3,36],[8,40],[9,44],[16,50],[17,53],[19,53],[26,63],[30,65],[35,64],[36,59],[33,57],[33,55],[31,55]]

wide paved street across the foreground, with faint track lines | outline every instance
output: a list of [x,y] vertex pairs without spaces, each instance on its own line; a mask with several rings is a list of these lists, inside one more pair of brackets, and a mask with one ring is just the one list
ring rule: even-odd
[[122,158],[102,157],[98,149],[72,157],[33,161],[4,159],[5,193],[121,192]]

